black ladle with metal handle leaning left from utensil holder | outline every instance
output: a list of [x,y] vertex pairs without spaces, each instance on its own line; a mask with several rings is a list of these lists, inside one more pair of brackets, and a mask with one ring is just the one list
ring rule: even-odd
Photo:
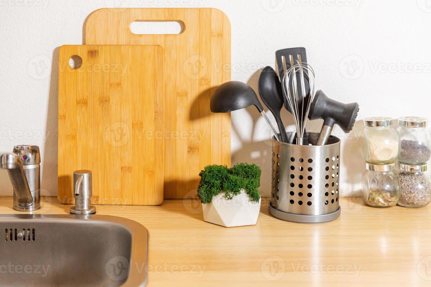
[[259,113],[262,114],[268,126],[271,128],[275,139],[279,141],[278,133],[265,114],[262,104],[259,102],[259,99],[257,99],[256,93],[246,83],[231,81],[220,85],[215,89],[211,97],[210,108],[213,113],[228,113],[247,108],[250,105],[254,105]]

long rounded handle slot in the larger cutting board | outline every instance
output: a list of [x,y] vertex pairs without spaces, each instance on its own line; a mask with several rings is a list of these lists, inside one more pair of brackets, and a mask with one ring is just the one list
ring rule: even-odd
[[130,31],[138,35],[181,34],[185,25],[182,21],[134,21]]

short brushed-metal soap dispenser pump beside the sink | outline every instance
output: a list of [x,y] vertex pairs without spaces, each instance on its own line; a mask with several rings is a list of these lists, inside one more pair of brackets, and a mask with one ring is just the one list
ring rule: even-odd
[[90,170],[76,170],[73,173],[73,197],[75,206],[70,209],[71,214],[95,214],[96,207],[91,205],[93,196],[93,182]]

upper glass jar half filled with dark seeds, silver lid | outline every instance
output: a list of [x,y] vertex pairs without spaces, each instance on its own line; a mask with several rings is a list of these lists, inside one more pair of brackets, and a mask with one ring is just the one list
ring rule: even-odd
[[401,117],[398,120],[401,138],[400,156],[403,164],[425,164],[431,157],[430,133],[424,117]]

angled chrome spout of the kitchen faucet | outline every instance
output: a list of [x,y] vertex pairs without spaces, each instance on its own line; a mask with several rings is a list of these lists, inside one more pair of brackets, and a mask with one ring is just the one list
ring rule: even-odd
[[6,169],[12,182],[14,196],[22,208],[33,205],[30,187],[25,176],[24,167],[21,160],[15,154],[2,154],[0,156],[0,168]]

